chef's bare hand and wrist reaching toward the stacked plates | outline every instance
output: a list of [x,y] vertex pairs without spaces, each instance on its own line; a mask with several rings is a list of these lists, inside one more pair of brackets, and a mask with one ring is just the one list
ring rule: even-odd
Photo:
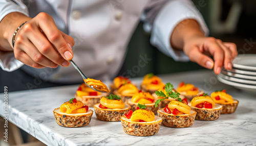
[[238,55],[236,44],[205,37],[197,21],[193,19],[184,20],[177,25],[170,43],[174,48],[183,49],[191,61],[208,69],[214,68],[215,74],[220,74],[222,66],[230,70],[232,60]]

